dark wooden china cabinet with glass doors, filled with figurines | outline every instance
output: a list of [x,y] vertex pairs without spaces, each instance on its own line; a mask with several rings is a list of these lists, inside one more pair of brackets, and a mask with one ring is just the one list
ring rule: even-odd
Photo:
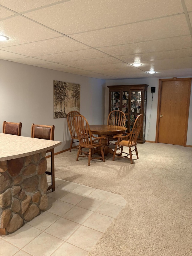
[[109,113],[112,110],[121,110],[125,113],[127,132],[132,130],[137,116],[143,114],[143,125],[137,139],[138,143],[145,142],[148,86],[148,84],[107,86],[109,88]]

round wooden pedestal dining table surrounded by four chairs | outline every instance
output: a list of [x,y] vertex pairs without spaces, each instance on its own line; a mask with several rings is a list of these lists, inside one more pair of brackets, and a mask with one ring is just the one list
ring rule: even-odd
[[[108,136],[121,134],[127,130],[126,127],[117,126],[117,125],[89,125],[89,128],[92,134],[98,134],[99,137],[104,136],[105,139],[101,139],[101,143],[104,146],[104,155],[108,153],[114,153],[113,149],[108,147]],[[98,152],[100,154],[100,152]]]

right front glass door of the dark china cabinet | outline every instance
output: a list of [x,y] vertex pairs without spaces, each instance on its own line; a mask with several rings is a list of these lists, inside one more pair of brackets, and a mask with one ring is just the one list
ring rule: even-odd
[[[132,131],[135,119],[141,113],[141,97],[143,90],[131,90],[131,116],[130,116],[130,131]],[[143,135],[143,134],[142,134]],[[138,139],[141,139],[141,134]]]

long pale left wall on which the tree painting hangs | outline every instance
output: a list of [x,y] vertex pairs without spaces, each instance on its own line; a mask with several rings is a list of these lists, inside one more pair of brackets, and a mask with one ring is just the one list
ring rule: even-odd
[[46,68],[0,60],[0,132],[3,121],[22,122],[22,136],[31,137],[31,125],[55,125],[54,139],[70,146],[66,118],[53,118],[53,80],[81,85],[80,113],[89,124],[103,124],[105,81]]

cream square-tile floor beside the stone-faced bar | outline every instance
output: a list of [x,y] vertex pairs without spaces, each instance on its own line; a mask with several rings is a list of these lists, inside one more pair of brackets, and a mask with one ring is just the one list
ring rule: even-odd
[[46,212],[0,236],[0,256],[85,256],[126,204],[121,195],[62,179],[55,186]]

